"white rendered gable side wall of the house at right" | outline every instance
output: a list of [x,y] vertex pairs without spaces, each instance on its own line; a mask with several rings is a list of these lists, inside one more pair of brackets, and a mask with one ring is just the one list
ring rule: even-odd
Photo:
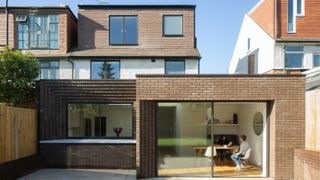
[[[249,38],[250,49],[248,50]],[[255,70],[256,73],[261,74],[273,69],[274,40],[251,17],[245,15],[229,64],[228,73],[243,74],[247,71],[243,68],[245,62],[240,62],[239,64],[239,60],[245,61],[247,56],[253,53],[257,56],[255,57],[255,63],[258,64]],[[243,67],[237,68],[238,64]],[[236,69],[238,69],[238,72]]]

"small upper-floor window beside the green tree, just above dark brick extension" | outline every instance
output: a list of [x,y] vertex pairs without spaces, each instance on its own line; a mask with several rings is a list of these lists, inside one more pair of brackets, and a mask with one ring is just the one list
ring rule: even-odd
[[40,79],[59,79],[59,61],[40,61]]

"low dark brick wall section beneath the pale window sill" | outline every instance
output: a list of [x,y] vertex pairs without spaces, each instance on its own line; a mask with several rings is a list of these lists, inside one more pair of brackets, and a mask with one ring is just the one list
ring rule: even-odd
[[135,144],[40,144],[44,165],[59,168],[135,169]]

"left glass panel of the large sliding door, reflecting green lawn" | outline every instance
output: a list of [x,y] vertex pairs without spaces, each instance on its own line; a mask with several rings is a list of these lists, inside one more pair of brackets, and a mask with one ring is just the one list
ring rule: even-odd
[[212,175],[211,103],[158,103],[159,176]]

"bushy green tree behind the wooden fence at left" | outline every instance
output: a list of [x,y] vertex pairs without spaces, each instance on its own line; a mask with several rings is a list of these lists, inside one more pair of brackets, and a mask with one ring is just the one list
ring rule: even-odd
[[21,106],[35,99],[39,63],[31,53],[8,47],[0,53],[0,102]]

